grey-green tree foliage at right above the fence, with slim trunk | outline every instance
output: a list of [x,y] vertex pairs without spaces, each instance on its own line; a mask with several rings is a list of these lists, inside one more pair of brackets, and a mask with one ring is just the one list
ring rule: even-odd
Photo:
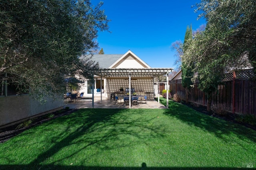
[[247,66],[242,57],[248,55],[255,70],[256,4],[255,0],[202,0],[196,11],[207,21],[204,31],[188,41],[182,63],[193,69],[192,80],[210,97],[217,90],[224,72]]

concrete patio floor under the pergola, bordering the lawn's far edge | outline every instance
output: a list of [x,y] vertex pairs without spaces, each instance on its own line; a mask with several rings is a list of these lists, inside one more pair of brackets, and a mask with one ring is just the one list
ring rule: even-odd
[[[69,107],[70,109],[82,109],[82,108],[92,108],[91,99],[82,99],[74,102],[65,102],[63,108]],[[129,105],[125,104],[122,101],[120,104],[119,101],[106,100],[102,97],[102,103],[100,103],[100,96],[94,96],[94,108],[110,108],[110,109],[128,109]],[[147,101],[147,104],[139,102],[138,105],[134,104],[131,107],[132,109],[166,109],[166,106],[158,103],[157,101]]]

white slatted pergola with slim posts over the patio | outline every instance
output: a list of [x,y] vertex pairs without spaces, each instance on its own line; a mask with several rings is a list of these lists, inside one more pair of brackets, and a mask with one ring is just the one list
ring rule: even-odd
[[[128,79],[129,89],[131,90],[131,80],[132,79],[152,79],[158,76],[166,75],[166,84],[168,86],[168,74],[172,72],[174,68],[104,68],[94,72],[95,75],[106,79]],[[100,81],[101,83],[101,81]],[[100,88],[102,86],[100,85]],[[167,89],[167,90],[168,90]],[[102,102],[102,89],[101,92],[101,102]],[[94,95],[94,93],[92,93]],[[131,92],[129,92],[131,95]],[[131,98],[131,96],[130,96]],[[159,103],[159,90],[158,90],[158,103]],[[92,107],[94,107],[94,96],[92,96]],[[168,108],[168,93],[166,94],[166,107]],[[131,99],[129,100],[129,108],[131,108]]]

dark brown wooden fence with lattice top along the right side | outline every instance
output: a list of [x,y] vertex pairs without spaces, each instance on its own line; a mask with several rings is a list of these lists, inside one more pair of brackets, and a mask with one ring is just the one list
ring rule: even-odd
[[[256,80],[251,80],[252,76],[253,73],[248,70],[246,74],[244,72],[226,74],[218,90],[212,94],[211,104],[224,103],[232,113],[256,115]],[[172,80],[169,85],[172,95],[177,93],[182,100],[186,100],[186,90],[182,87],[181,80]],[[206,94],[198,89],[198,84],[190,89],[189,102],[207,106]]]

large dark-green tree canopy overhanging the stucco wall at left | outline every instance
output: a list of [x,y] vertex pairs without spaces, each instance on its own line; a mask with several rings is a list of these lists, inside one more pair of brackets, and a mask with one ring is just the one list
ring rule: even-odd
[[0,4],[2,84],[16,84],[20,93],[32,89],[42,99],[63,94],[67,77],[92,77],[97,63],[80,56],[98,48],[98,31],[108,30],[102,2],[93,6],[90,0],[0,0]]

